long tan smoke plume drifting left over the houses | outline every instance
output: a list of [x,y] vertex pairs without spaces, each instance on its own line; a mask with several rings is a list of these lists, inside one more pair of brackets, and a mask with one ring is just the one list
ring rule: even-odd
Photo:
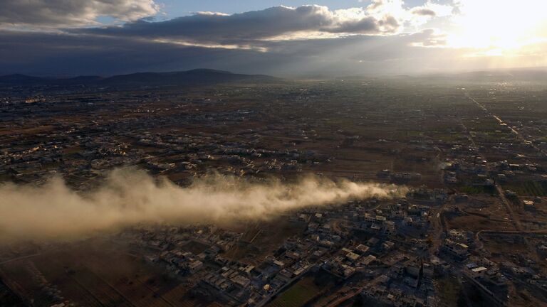
[[58,177],[40,186],[0,185],[0,239],[78,238],[141,223],[265,220],[306,206],[405,193],[395,185],[316,176],[283,183],[212,174],[182,188],[144,171],[121,168],[85,192],[72,190]]

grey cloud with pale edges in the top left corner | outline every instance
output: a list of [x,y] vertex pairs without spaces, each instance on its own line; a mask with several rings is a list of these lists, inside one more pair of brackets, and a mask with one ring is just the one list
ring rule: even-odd
[[1,0],[0,26],[85,26],[99,16],[132,21],[158,9],[153,0]]

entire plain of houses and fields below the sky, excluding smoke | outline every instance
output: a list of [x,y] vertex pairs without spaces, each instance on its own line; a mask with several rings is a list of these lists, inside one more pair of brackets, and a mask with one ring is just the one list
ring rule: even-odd
[[182,187],[214,170],[409,188],[266,220],[9,242],[2,306],[547,304],[543,85],[401,77],[0,92],[5,183],[61,176],[83,192],[134,167]]

